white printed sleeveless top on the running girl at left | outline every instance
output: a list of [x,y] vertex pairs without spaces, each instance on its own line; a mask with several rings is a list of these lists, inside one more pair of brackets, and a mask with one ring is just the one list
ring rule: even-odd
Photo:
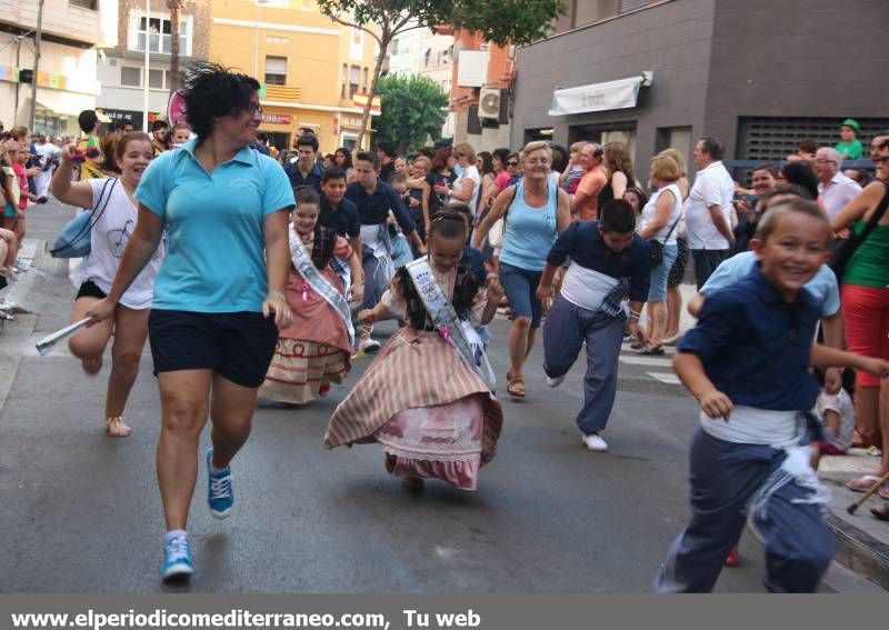
[[[92,187],[92,231],[90,232],[90,253],[83,259],[73,273],[71,282],[80,287],[92,280],[104,293],[111,290],[111,283],[120,267],[123,250],[136,229],[139,210],[127,197],[123,184],[117,179],[90,179]],[[106,184],[106,182],[108,182]],[[106,187],[104,198],[102,187]],[[108,204],[106,206],[106,200]],[[102,210],[104,208],[104,210]],[[163,261],[163,242],[148,261],[144,269],[136,277],[130,288],[120,298],[120,303],[134,310],[151,307],[154,298],[154,278]]]

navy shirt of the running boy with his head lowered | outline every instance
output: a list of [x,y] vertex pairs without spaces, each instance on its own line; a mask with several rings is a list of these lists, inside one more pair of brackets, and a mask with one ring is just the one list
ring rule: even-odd
[[[509,219],[507,219],[509,229]],[[630,279],[630,300],[645,302],[651,280],[648,241],[639,234],[621,252],[609,249],[599,232],[599,221],[575,221],[556,240],[547,262],[560,267],[568,257],[580,267],[592,269],[611,278]]]

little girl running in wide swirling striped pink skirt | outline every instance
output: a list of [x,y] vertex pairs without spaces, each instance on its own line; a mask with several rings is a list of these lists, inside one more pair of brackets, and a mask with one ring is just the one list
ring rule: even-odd
[[[498,300],[489,306],[485,279],[460,263],[466,237],[460,214],[437,214],[429,231],[429,267],[458,318],[478,326],[490,321]],[[422,488],[423,478],[430,477],[475,490],[479,468],[497,450],[500,403],[436,330],[404,268],[380,303],[361,311],[359,319],[372,323],[390,312],[408,324],[337,407],[324,446],[376,441],[386,452],[386,469],[409,488]]]

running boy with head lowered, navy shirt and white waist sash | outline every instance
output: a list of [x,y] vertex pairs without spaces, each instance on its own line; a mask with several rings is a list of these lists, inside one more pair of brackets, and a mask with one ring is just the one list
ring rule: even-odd
[[[547,257],[537,297],[547,304],[552,279],[568,257],[559,297],[543,326],[543,371],[557,387],[587,344],[583,407],[577,416],[583,443],[591,451],[608,450],[599,434],[608,423],[618,387],[618,359],[623,327],[645,342],[639,310],[648,296],[650,254],[635,232],[636,216],[629,202],[613,199],[600,209],[600,220],[573,222]],[[625,300],[629,298],[629,309]],[[627,313],[629,310],[629,313]]]

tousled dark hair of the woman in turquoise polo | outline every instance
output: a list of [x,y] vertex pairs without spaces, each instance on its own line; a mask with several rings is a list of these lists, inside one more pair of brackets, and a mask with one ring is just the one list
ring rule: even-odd
[[186,116],[203,142],[213,131],[213,118],[250,109],[250,98],[259,91],[252,77],[232,72],[219,63],[201,61],[189,67],[180,93],[186,99]]

